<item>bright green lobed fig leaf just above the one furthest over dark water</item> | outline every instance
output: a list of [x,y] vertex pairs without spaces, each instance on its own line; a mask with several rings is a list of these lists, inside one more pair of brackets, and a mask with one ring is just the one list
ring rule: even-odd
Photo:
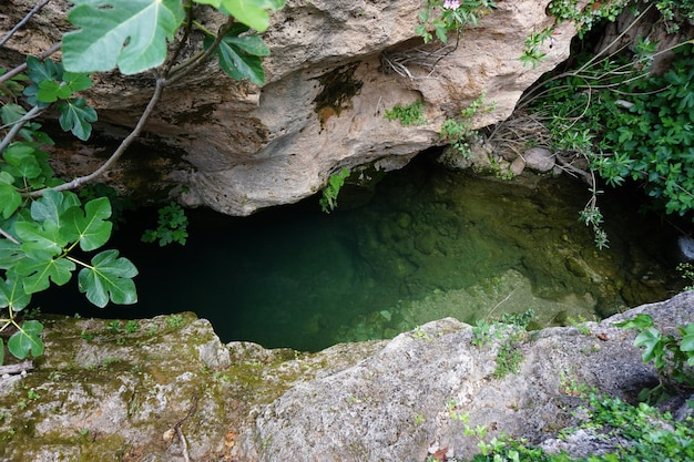
[[113,224],[106,222],[110,217],[111,203],[106,197],[88,202],[84,212],[80,207],[72,207],[63,218],[65,236],[76,236],[82,250],[94,250],[111,237]]

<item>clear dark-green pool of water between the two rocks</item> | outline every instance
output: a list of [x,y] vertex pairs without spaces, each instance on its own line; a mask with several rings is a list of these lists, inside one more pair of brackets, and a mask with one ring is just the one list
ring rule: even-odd
[[602,197],[611,248],[578,220],[585,186],[570,178],[498,182],[426,160],[374,194],[317,198],[246,218],[190,213],[185,247],[139,243],[154,215],[133,215],[114,246],[139,267],[139,304],[92,308],[75,281],[43,312],[139,318],[195,311],[223,341],[318,350],[390,337],[445,316],[473,322],[533,308],[538,326],[595,318],[682,286],[671,226],[632,197]]

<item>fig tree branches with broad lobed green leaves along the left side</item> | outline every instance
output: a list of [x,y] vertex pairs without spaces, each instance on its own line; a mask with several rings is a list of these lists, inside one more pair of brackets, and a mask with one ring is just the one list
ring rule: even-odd
[[[31,296],[62,286],[78,271],[78,287],[98,307],[134,304],[137,269],[116,249],[102,249],[113,230],[106,196],[85,202],[72,192],[101,176],[140,134],[166,85],[216,57],[233,79],[265,83],[262,58],[269,49],[257,35],[267,29],[269,12],[284,0],[73,0],[67,17],[74,30],[61,47],[42,57],[27,57],[25,66],[0,69],[0,331],[17,329],[7,347],[23,359],[43,351],[42,326],[20,312]],[[214,8],[225,18],[211,32],[194,17],[194,3]],[[28,17],[37,13],[40,6]],[[253,30],[255,29],[255,31]],[[191,31],[204,34],[203,48],[181,57]],[[14,30],[0,40],[11,39]],[[173,42],[181,40],[177,47]],[[48,58],[62,49],[62,61]],[[173,51],[169,51],[172,49]],[[154,70],[153,95],[140,121],[111,157],[93,173],[65,182],[54,175],[49,154],[53,144],[34,119],[53,106],[62,130],[89,140],[96,111],[80,92],[92,86],[90,73],[118,68],[123,74]],[[25,71],[24,71],[25,70]],[[22,73],[22,71],[24,71]],[[160,243],[185,243],[187,219],[171,205],[152,232]],[[147,237],[152,237],[147,235]],[[4,350],[0,345],[0,363]]]

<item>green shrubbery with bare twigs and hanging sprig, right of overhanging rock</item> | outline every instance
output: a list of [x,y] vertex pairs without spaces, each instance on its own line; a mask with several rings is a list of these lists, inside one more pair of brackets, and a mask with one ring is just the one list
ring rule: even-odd
[[[552,2],[554,8],[563,3],[575,2]],[[650,3],[634,23],[651,10],[664,11],[665,3],[671,2]],[[615,4],[624,8],[625,2]],[[652,72],[654,59],[670,52],[674,52],[670,69]],[[547,76],[519,103],[545,125],[549,147],[559,160],[589,161],[585,176],[592,197],[580,218],[592,228],[599,248],[608,247],[609,240],[596,204],[602,193],[598,177],[612,187],[627,181],[642,184],[666,214],[684,216],[694,209],[693,81],[694,40],[659,49],[646,37],[629,50],[608,45],[598,54],[576,57],[570,70]]]

